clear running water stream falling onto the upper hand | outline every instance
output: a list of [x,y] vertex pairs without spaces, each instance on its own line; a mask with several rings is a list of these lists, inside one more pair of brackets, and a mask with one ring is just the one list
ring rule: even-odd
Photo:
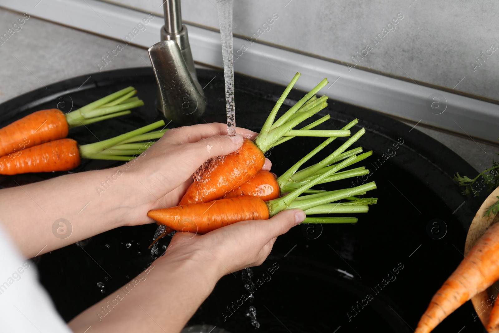
[[224,59],[225,102],[227,108],[227,134],[236,135],[236,106],[234,104],[234,46],[232,39],[233,0],[217,0]]

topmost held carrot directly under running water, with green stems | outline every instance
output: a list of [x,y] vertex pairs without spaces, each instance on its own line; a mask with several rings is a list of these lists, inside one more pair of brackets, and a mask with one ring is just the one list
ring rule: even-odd
[[299,123],[327,106],[327,96],[319,98],[314,96],[327,84],[327,79],[322,80],[274,122],[277,111],[300,75],[300,73],[296,73],[277,100],[254,143],[245,140],[243,147],[236,152],[205,163],[194,177],[194,183],[187,189],[180,202],[181,205],[209,202],[221,198],[229,191],[238,188],[262,168],[266,151],[295,136],[338,137],[350,135],[349,130],[310,129],[329,119],[328,116],[322,117],[300,130],[293,130]]

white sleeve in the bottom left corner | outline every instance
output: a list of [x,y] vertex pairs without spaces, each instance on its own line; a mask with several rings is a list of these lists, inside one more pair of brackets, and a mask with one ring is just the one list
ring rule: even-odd
[[70,333],[24,259],[0,225],[0,332]]

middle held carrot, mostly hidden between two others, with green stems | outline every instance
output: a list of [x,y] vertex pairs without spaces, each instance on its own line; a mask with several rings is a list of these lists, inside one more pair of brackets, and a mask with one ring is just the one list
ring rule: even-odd
[[[358,120],[355,119],[343,127],[343,130],[350,129]],[[372,155],[372,151],[357,155],[362,152],[362,147],[357,147],[345,151],[349,148],[355,141],[357,141],[365,133],[364,129],[359,130],[351,138],[349,138],[344,144],[342,144],[338,149],[328,155],[326,158],[320,162],[304,168],[303,170],[297,171],[305,162],[317,154],[320,150],[330,144],[336,137],[330,137],[326,139],[323,143],[317,146],[314,150],[308,153],[305,157],[295,163],[291,168],[284,172],[280,177],[276,178],[272,173],[268,171],[260,170],[254,177],[250,178],[246,183],[238,187],[237,189],[227,193],[224,198],[233,198],[236,196],[252,195],[257,196],[263,201],[276,199],[281,194],[290,192],[298,187],[310,182],[311,180],[317,178],[320,174],[324,173],[332,167],[334,163],[337,163],[350,156],[355,156],[355,159],[351,164],[357,163],[364,160],[365,158]],[[351,165],[350,164],[350,165]],[[347,165],[348,166],[348,165]],[[359,167],[351,170],[336,172],[325,178],[320,183],[328,183],[336,180],[341,180],[350,177],[358,177],[362,175],[369,174],[369,170],[365,167]],[[318,193],[318,190],[307,190],[305,193]]]

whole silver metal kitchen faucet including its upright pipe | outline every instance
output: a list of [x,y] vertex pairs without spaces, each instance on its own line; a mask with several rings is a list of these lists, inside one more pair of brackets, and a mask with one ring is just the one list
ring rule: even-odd
[[156,107],[169,120],[193,124],[205,111],[206,98],[194,68],[187,27],[182,24],[180,0],[166,0],[163,9],[161,41],[149,48],[158,83]]

